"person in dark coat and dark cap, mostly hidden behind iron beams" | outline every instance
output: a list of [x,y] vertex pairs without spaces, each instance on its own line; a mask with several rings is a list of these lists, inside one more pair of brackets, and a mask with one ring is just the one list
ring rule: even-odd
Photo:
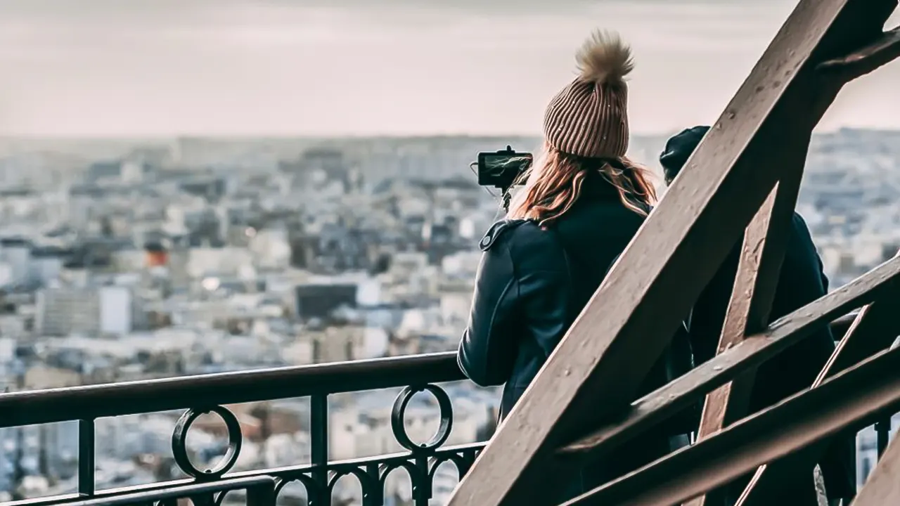
[[[681,167],[700,140],[709,131],[708,126],[698,126],[672,137],[660,156],[666,184],[678,176]],[[716,355],[718,342],[725,322],[741,256],[742,242],[735,244],[722,267],[713,276],[694,306],[689,319],[689,336],[694,361],[697,365]],[[776,288],[770,321],[775,321],[789,312],[811,303],[828,292],[828,277],[824,275],[822,260],[815,249],[806,221],[794,212],[791,217],[790,235]],[[756,384],[751,395],[750,411],[759,411],[784,398],[808,388],[822,370],[834,349],[831,330],[824,327],[797,345],[788,348],[778,357],[763,364],[756,375]],[[848,454],[849,450],[849,454]],[[847,441],[837,440],[832,451],[822,463],[826,489],[832,497],[845,497],[856,486],[856,476],[852,465],[853,447]],[[729,503],[734,503],[743,492],[746,480],[735,482],[730,487]],[[809,491],[813,490],[813,480],[809,480]],[[810,505],[815,505],[815,495],[810,495]]]

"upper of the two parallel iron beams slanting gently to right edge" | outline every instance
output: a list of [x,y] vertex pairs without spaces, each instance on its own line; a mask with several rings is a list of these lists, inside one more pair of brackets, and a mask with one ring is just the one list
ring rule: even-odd
[[[845,314],[862,304],[871,303],[879,294],[892,293],[900,287],[900,258],[892,258],[868,273],[824,297],[806,304],[795,312],[774,321],[770,328],[752,339],[744,339],[738,346],[713,357],[688,374],[649,393],[632,404],[623,420],[595,430],[562,447],[560,456],[574,459],[593,459],[605,455],[645,430],[664,422],[702,395],[734,378],[747,367],[757,366],[787,349],[817,325]],[[838,320],[844,324],[844,318]],[[860,357],[868,355],[853,354]],[[855,363],[853,362],[853,363]]]

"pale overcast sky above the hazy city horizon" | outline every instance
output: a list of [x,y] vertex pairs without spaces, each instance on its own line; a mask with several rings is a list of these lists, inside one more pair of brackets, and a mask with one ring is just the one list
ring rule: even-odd
[[[634,47],[633,131],[671,131],[715,121],[795,3],[0,0],[0,135],[536,133],[595,27]],[[897,82],[822,126],[900,128]]]

